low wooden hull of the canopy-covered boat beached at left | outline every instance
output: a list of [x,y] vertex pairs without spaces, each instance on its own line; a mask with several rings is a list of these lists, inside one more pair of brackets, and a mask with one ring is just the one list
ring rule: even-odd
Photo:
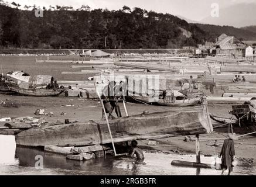
[[24,89],[20,88],[17,85],[8,84],[10,90],[15,93],[19,93],[21,95],[25,96],[57,96],[60,95],[65,91],[65,89],[56,89],[55,91],[53,89]]

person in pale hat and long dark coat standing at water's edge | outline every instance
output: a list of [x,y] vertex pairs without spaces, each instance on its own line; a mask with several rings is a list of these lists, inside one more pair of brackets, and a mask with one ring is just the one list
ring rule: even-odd
[[221,175],[224,174],[224,171],[227,170],[228,168],[228,175],[231,174],[231,172],[233,171],[233,165],[232,162],[235,159],[235,148],[234,148],[234,140],[238,140],[238,137],[235,136],[235,134],[228,134],[228,139],[226,139],[223,143],[223,146],[221,148],[221,152],[219,157],[221,158]]

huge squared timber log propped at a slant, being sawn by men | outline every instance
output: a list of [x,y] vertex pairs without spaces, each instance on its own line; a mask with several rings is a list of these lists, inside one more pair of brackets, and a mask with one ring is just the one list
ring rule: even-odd
[[[114,143],[150,140],[180,135],[211,133],[207,106],[171,109],[166,112],[120,117],[110,120]],[[105,121],[34,127],[16,134],[19,146],[90,146],[111,143]]]

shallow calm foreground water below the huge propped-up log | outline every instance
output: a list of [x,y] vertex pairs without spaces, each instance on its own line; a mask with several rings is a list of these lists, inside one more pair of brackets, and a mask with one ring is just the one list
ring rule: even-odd
[[[173,167],[172,160],[195,161],[195,155],[145,154],[145,165],[134,164],[130,158],[97,158],[89,161],[66,160],[63,155],[16,147],[14,136],[0,135],[0,175],[220,175],[216,169]],[[43,168],[36,169],[36,155],[42,155]],[[202,157],[214,163],[214,157]],[[234,175],[256,175],[256,168],[235,167]]]

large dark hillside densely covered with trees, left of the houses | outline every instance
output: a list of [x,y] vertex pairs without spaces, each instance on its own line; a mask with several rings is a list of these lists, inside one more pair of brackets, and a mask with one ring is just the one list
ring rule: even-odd
[[209,34],[196,25],[170,14],[141,8],[73,11],[56,6],[56,9],[45,9],[43,18],[37,18],[35,9],[24,11],[0,5],[0,47],[170,49],[196,46],[209,39]]

